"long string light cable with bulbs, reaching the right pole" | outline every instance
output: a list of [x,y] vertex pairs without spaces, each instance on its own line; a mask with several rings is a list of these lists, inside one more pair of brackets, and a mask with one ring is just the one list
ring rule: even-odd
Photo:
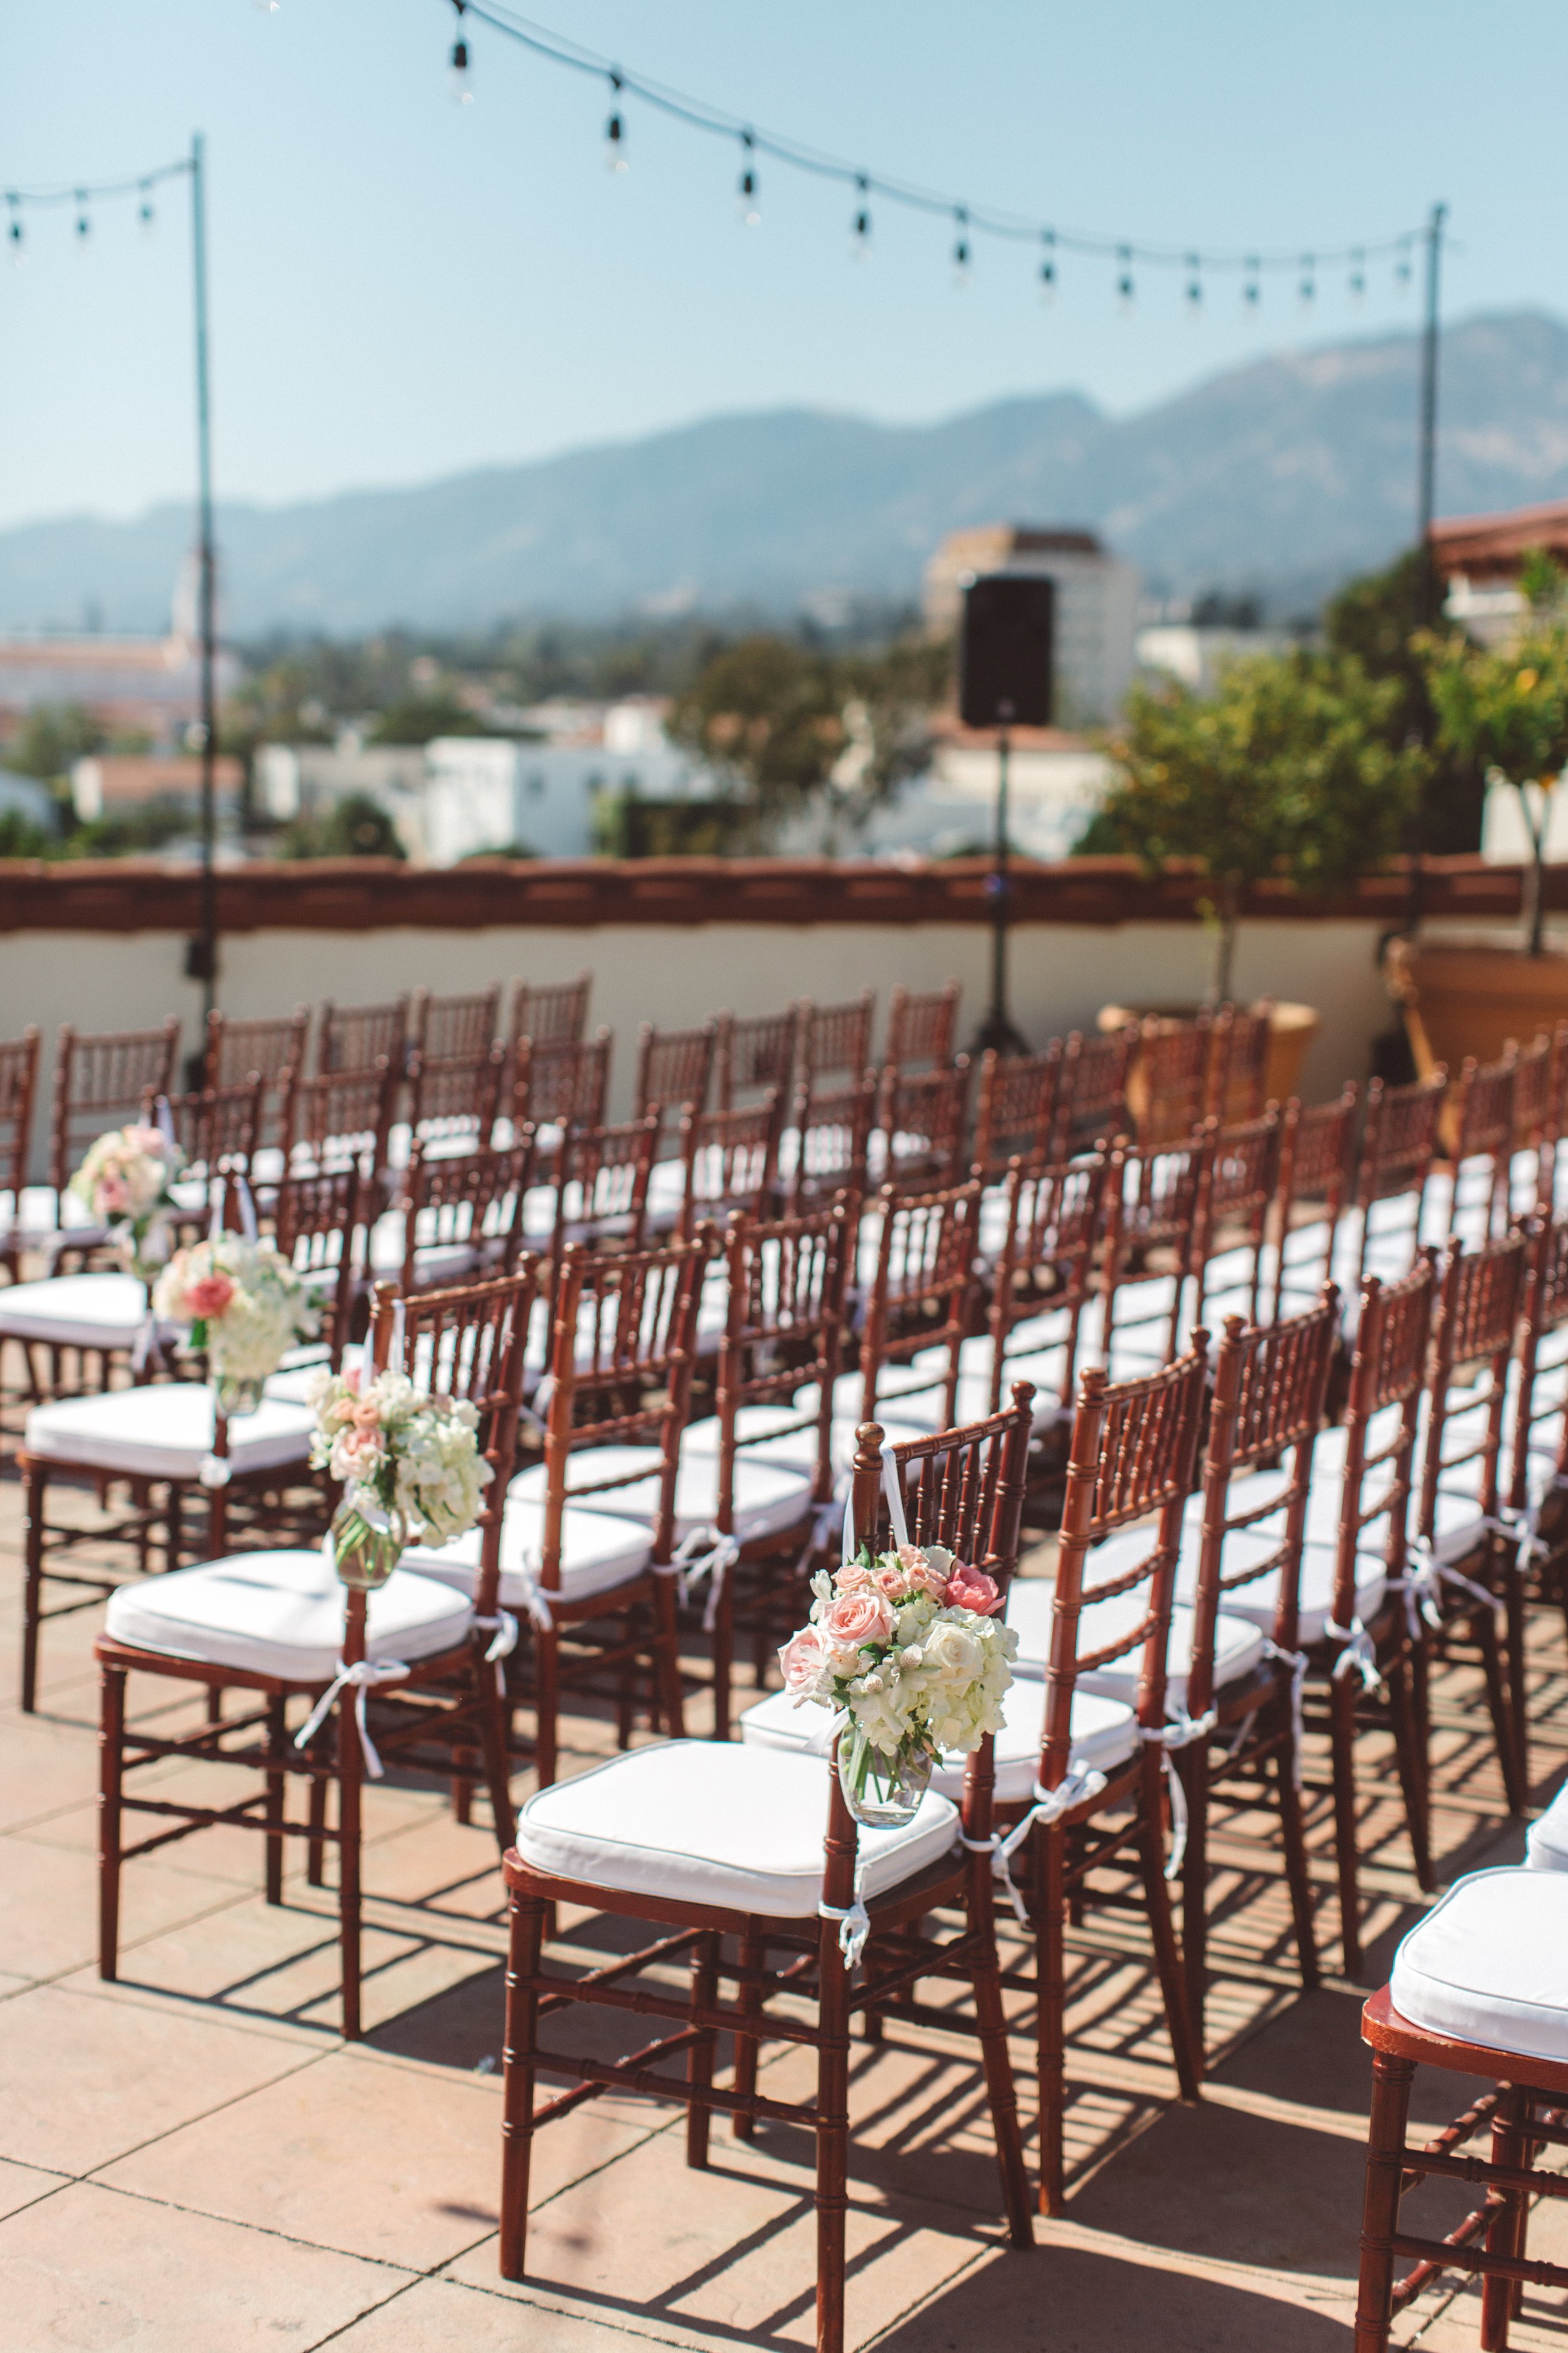
[[722,106],[710,106],[705,99],[693,99],[684,89],[672,89],[668,82],[630,73],[625,66],[609,56],[599,56],[595,49],[585,49],[569,35],[555,33],[550,26],[536,24],[531,16],[520,16],[515,9],[505,7],[503,0],[442,0],[442,5],[456,12],[456,42],[451,61],[454,78],[463,78],[463,96],[470,96],[468,26],[480,24],[517,47],[529,49],[534,56],[609,85],[614,108],[614,132],[609,136],[614,141],[614,160],[618,167],[625,167],[628,146],[625,101],[637,99],[656,113],[668,115],[675,122],[684,122],[689,129],[729,139],[741,148],[743,219],[752,226],[759,219],[755,202],[757,160],[766,158],[769,162],[785,165],[788,169],[804,172],[813,179],[842,181],[853,193],[856,249],[863,249],[870,240],[872,200],[903,205],[907,212],[924,212],[954,224],[957,242],[952,259],[957,278],[969,273],[973,240],[997,238],[1011,245],[1032,245],[1037,252],[1044,249],[1039,278],[1046,296],[1051,296],[1060,285],[1060,256],[1077,254],[1114,264],[1117,292],[1124,304],[1133,299],[1135,268],[1182,271],[1187,306],[1194,313],[1204,308],[1201,280],[1220,275],[1239,278],[1241,299],[1253,306],[1260,299],[1260,282],[1267,273],[1291,273],[1295,278],[1300,301],[1309,304],[1326,271],[1345,271],[1349,294],[1359,299],[1366,294],[1366,271],[1373,261],[1392,261],[1394,282],[1403,292],[1413,278],[1415,252],[1427,238],[1427,228],[1406,228],[1389,238],[1361,238],[1354,245],[1340,247],[1291,245],[1272,252],[1258,247],[1220,247],[1199,252],[1192,245],[1147,245],[1143,240],[1112,238],[1084,228],[1063,228],[1056,221],[1032,219],[1030,214],[1009,212],[997,205],[976,205],[940,188],[922,186],[919,181],[898,179],[886,172],[867,172],[865,165],[856,165],[844,155],[825,153],[823,148],[806,146],[804,141],[790,139],[780,132],[759,129],[757,122],[743,115],[731,115]]

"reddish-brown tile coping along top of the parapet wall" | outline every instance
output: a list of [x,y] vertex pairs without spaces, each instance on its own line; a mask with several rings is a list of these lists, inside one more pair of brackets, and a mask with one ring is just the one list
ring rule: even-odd
[[[475,859],[409,868],[393,859],[320,859],[308,866],[221,868],[219,929],[381,932],[541,925],[912,925],[990,922],[985,859],[886,866],[870,859]],[[1013,866],[1016,922],[1197,922],[1201,875],[1145,875],[1131,859]],[[1547,871],[1547,906],[1568,911],[1568,866]],[[1521,868],[1476,856],[1408,861],[1352,889],[1305,899],[1265,882],[1244,915],[1324,915],[1401,925],[1420,899],[1429,918],[1509,920],[1521,906]],[[0,932],[195,932],[200,875],[158,859],[40,864],[0,859]]]

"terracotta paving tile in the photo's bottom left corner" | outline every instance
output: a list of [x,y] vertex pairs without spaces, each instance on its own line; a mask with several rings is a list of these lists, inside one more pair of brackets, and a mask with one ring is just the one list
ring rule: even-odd
[[0,2224],[14,2353],[275,2353],[317,2346],[402,2273],[78,2184]]

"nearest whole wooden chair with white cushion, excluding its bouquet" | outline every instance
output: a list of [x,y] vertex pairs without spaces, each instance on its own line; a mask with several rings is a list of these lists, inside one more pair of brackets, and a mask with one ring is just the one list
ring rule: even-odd
[[[851,1539],[877,1541],[884,1457],[882,1431],[865,1428],[853,1471]],[[950,1544],[1006,1574],[1018,1551],[1027,1405],[940,1440],[898,1449],[893,1537]],[[924,1461],[917,1459],[924,1454]],[[914,1457],[914,1459],[912,1459]],[[914,1471],[907,1520],[903,1475]],[[686,2104],[686,2160],[708,2162],[710,2115],[729,2113],[738,2139],[757,2118],[816,2134],[816,2346],[844,2348],[844,2214],[849,2165],[849,2033],[856,2012],[875,2019],[910,2012],[910,1981],[924,1972],[969,1979],[1013,2245],[1027,2247],[1030,2212],[1018,2113],[1006,2059],[992,1920],[992,1755],[990,1741],[959,1769],[950,1798],[926,1793],[907,1828],[877,1833],[875,1849],[851,1821],[839,1777],[816,1755],[762,1744],[670,1741],[614,1758],[531,1798],[505,1861],[512,1901],[508,1969],[508,2071],[501,2184],[501,2273],[524,2278],[527,2200],[534,2134],[599,2089],[651,2092]],[[961,1760],[959,1760],[961,1762]],[[825,1847],[818,1826],[825,1812]],[[961,1835],[961,1847],[959,1847]],[[585,1904],[616,1918],[675,1927],[607,1972],[543,1969],[550,1904]],[[959,1908],[957,1937],[922,1934],[926,1915]],[[736,1960],[729,1960],[729,1951]],[[865,1979],[853,1984],[865,1953]],[[691,1991],[644,1991],[635,1972],[691,1955]],[[771,1962],[771,1955],[780,1955]],[[891,1965],[889,1965],[891,1962]],[[813,1972],[813,1974],[811,1974]],[[736,2000],[722,1986],[736,1984]],[[790,2009],[769,2002],[788,1998]],[[538,2019],[571,2002],[654,2012],[670,2033],[635,2059],[543,2049]],[[813,2012],[802,2019],[802,2002]],[[919,2012],[964,2026],[959,2012]],[[715,2085],[717,2038],[736,2038],[733,2087]],[[757,2052],[771,2040],[806,2042],[818,2054],[816,2094],[778,2101],[757,2092]],[[689,2052],[686,2082],[656,2073]],[[564,2075],[569,2092],[536,2106],[536,2078]]]

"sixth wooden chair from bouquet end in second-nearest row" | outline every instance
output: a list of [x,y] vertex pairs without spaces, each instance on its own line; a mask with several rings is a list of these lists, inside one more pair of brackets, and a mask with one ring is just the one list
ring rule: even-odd
[[[1124,1379],[1178,1351],[1187,1282],[1197,1266],[1213,1129],[1159,1151],[1112,1153],[1100,1249],[1100,1353]],[[1138,1294],[1150,1294],[1138,1301]],[[1135,1313],[1126,1313],[1126,1301]]]

